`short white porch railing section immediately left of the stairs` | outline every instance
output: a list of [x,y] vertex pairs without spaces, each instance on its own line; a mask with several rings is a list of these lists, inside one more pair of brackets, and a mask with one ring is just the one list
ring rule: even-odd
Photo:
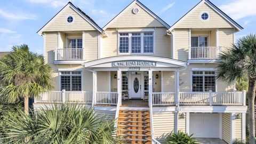
[[117,105],[117,92],[96,92],[95,104]]

